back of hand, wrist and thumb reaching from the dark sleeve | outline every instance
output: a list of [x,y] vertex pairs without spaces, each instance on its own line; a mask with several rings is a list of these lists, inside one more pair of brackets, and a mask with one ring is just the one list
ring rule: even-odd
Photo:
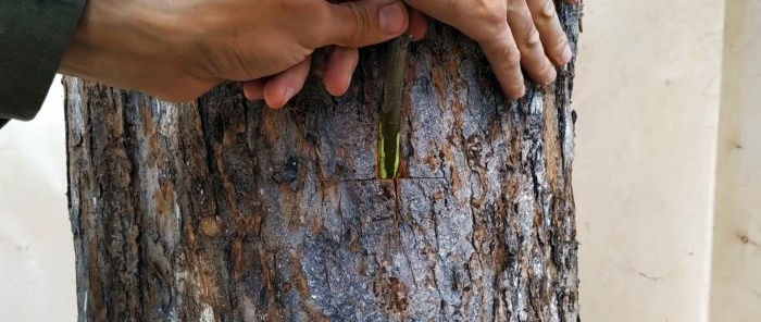
[[186,101],[223,81],[301,71],[316,48],[392,39],[408,23],[395,0],[90,0],[60,72]]

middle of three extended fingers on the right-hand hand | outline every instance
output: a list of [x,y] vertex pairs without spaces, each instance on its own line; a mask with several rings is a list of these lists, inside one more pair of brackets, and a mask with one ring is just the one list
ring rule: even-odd
[[508,2],[508,22],[521,52],[521,65],[535,82],[549,85],[554,82],[557,73],[550,60],[545,55],[545,49],[539,39],[539,33],[534,27],[532,13],[524,0]]

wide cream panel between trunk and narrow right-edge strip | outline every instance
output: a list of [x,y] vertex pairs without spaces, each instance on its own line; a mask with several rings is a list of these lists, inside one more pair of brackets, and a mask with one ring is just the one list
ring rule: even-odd
[[585,2],[583,321],[707,321],[724,1]]

